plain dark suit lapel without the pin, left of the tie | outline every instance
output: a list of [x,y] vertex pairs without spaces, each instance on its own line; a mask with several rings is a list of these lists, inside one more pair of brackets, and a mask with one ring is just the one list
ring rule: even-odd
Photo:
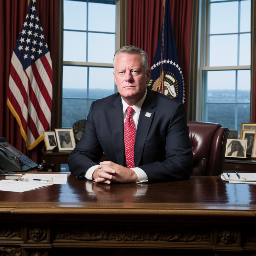
[[110,123],[114,140],[117,163],[124,166],[124,118],[121,95],[113,102],[114,109],[110,110]]

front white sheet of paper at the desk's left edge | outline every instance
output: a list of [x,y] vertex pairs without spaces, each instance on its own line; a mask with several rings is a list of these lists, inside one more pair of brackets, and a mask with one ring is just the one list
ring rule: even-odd
[[11,191],[11,192],[25,192],[32,189],[50,186],[51,184],[45,184],[41,182],[25,182],[25,181],[16,181],[2,179],[0,180],[0,190],[2,191]]

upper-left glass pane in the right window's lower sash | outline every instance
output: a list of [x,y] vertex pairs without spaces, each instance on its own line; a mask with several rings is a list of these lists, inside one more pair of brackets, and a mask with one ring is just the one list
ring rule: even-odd
[[235,101],[236,71],[208,71],[207,89],[208,102]]

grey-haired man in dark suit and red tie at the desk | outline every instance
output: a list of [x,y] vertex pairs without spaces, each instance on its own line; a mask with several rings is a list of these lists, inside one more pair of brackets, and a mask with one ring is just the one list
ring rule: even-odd
[[[92,102],[68,159],[70,172],[107,184],[189,178],[193,156],[184,104],[147,88],[151,69],[140,48],[120,48],[113,63],[119,92]],[[98,165],[103,151],[107,161]]]

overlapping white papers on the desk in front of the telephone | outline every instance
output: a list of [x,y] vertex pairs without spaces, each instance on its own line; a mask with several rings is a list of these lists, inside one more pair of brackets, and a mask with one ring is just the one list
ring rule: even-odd
[[[16,180],[0,180],[0,190],[12,191],[12,192],[25,192],[36,188],[51,186],[54,184],[67,184],[67,174],[37,174],[37,173],[26,173],[22,176],[27,178],[29,181],[16,181]],[[51,182],[43,180],[51,180]],[[42,181],[35,181],[34,179],[40,179]]]

